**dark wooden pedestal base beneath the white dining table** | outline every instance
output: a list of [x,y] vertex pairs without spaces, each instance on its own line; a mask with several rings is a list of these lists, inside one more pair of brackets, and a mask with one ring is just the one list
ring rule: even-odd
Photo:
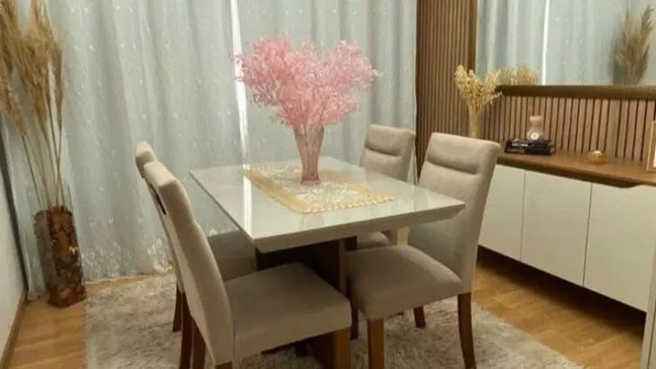
[[[355,238],[338,239],[305,247],[295,247],[271,253],[257,252],[258,269],[266,269],[287,263],[303,263],[314,273],[346,295],[346,246],[357,242]],[[323,335],[308,340],[314,357],[323,367],[332,368],[335,341],[333,335]]]

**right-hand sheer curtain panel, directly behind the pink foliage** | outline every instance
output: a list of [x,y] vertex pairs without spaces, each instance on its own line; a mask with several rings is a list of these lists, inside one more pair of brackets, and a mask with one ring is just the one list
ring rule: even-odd
[[[296,46],[315,40],[328,48],[340,40],[359,46],[382,76],[360,94],[360,112],[330,127],[322,154],[357,162],[369,123],[415,130],[415,0],[240,0],[242,48],[263,35],[284,32]],[[269,111],[250,104],[252,161],[297,157],[289,130],[269,121]],[[414,166],[413,166],[414,167]],[[413,174],[414,175],[414,174]]]

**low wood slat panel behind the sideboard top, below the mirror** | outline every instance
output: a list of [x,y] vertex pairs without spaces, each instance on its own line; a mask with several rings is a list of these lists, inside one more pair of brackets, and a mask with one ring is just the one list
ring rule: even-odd
[[558,149],[600,149],[612,157],[639,161],[646,155],[645,136],[656,120],[656,102],[504,96],[487,108],[482,138],[497,142],[522,138],[531,115],[544,117],[545,135]]

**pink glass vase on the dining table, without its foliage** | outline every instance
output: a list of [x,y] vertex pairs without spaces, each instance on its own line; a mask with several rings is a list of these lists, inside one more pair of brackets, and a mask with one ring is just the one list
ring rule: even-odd
[[323,126],[308,124],[294,127],[294,139],[301,156],[301,184],[320,184],[319,154],[323,142]]

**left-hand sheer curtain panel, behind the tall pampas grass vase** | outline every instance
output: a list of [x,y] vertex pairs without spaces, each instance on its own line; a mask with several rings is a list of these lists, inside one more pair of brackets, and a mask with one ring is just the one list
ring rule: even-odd
[[[18,2],[27,14],[30,2]],[[187,175],[241,162],[227,1],[52,0],[63,35],[64,164],[87,280],[169,267],[168,248],[133,164],[147,139],[190,193],[208,232],[230,227]],[[12,132],[9,132],[12,133]],[[14,132],[15,133],[15,132]],[[20,140],[5,135],[23,257],[34,297],[43,290]]]

